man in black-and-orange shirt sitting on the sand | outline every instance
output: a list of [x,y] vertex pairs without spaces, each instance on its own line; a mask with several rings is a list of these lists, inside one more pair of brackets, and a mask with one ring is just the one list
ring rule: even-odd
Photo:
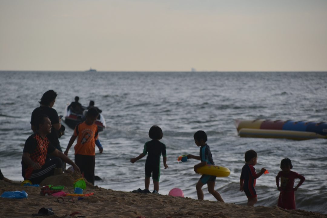
[[[73,166],[80,173],[77,165],[66,155],[56,149],[48,140],[46,135],[51,132],[51,121],[47,115],[40,115],[36,122],[36,132],[25,142],[22,156],[22,176],[33,184],[39,184],[43,179],[55,174],[55,169],[62,167],[62,161]],[[45,162],[46,155],[54,158]]]

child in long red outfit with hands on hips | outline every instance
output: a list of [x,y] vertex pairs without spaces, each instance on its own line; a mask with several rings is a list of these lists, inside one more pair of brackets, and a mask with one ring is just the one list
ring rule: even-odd
[[[285,158],[281,161],[281,169],[276,176],[276,185],[278,191],[281,191],[278,198],[278,207],[294,210],[295,209],[295,195],[294,191],[298,190],[298,188],[302,185],[305,178],[304,176],[291,171],[293,168],[292,162],[290,159]],[[294,187],[294,180],[296,178],[300,179],[299,184]],[[281,179],[281,186],[279,186],[279,179]]]

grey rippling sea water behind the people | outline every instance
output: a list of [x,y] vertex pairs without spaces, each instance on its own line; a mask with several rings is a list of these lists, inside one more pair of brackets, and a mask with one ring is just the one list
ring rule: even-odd
[[[231,175],[217,178],[215,189],[227,203],[246,205],[239,191],[244,153],[258,153],[257,171],[269,174],[257,179],[256,205],[275,206],[279,192],[275,176],[280,162],[289,158],[293,171],[306,180],[295,192],[298,209],[327,213],[327,140],[240,138],[234,119],[281,119],[327,121],[326,72],[0,72],[0,167],[9,179],[22,181],[21,157],[32,130],[30,116],[42,94],[58,93],[54,109],[63,115],[67,104],[79,96],[102,109],[107,128],[100,132],[103,154],[96,151],[95,185],[106,189],[144,189],[146,158],[134,164],[130,158],[143,151],[152,125],[163,129],[167,164],[161,163],[160,190],[168,194],[177,187],[186,197],[197,199],[200,175],[193,171],[199,161],[178,163],[184,154],[199,154],[193,134],[208,135],[216,165]],[[63,123],[63,122],[62,122]],[[65,125],[63,123],[63,125]],[[73,134],[66,126],[60,138],[63,150]],[[73,148],[69,158],[74,159]],[[297,184],[299,180],[296,180]],[[150,191],[152,191],[152,182]],[[215,200],[203,187],[204,199]]]

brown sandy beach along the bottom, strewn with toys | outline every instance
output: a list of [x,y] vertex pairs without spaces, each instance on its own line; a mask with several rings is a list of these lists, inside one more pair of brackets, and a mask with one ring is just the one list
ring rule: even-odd
[[[78,175],[60,174],[50,176],[42,181],[44,185],[64,185],[64,191],[73,193],[73,182]],[[304,210],[283,210],[276,207],[247,207],[235,204],[223,204],[216,201],[202,201],[192,198],[173,197],[160,194],[144,194],[107,190],[93,187],[87,183],[84,193],[93,192],[94,195],[78,200],[78,197],[63,197],[64,202],[58,202],[57,197],[41,196],[40,187],[21,186],[20,182],[7,183],[0,180],[2,194],[5,191],[24,190],[28,197],[24,199],[0,198],[1,217],[32,217],[41,208],[52,208],[55,214],[48,217],[69,217],[73,212],[80,212],[85,217],[120,217],[146,218],[157,217],[327,217]],[[70,199],[70,200],[69,200]],[[69,200],[69,201],[68,201]],[[73,201],[73,202],[71,202]],[[79,214],[77,214],[79,215]],[[77,217],[73,215],[71,217]],[[36,216],[38,217],[38,216]]]

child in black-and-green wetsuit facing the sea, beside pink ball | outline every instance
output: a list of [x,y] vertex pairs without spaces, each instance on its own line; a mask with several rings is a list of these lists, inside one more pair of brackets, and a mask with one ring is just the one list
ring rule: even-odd
[[159,126],[152,126],[149,130],[149,137],[152,139],[144,144],[143,153],[137,156],[136,158],[130,159],[131,163],[135,163],[137,160],[146,156],[145,163],[145,188],[149,190],[150,186],[150,177],[152,173],[153,179],[153,192],[159,192],[159,178],[160,178],[160,156],[163,155],[163,166],[165,169],[168,168],[166,164],[167,156],[166,156],[166,145],[159,142],[160,139],[163,138],[163,131]]

